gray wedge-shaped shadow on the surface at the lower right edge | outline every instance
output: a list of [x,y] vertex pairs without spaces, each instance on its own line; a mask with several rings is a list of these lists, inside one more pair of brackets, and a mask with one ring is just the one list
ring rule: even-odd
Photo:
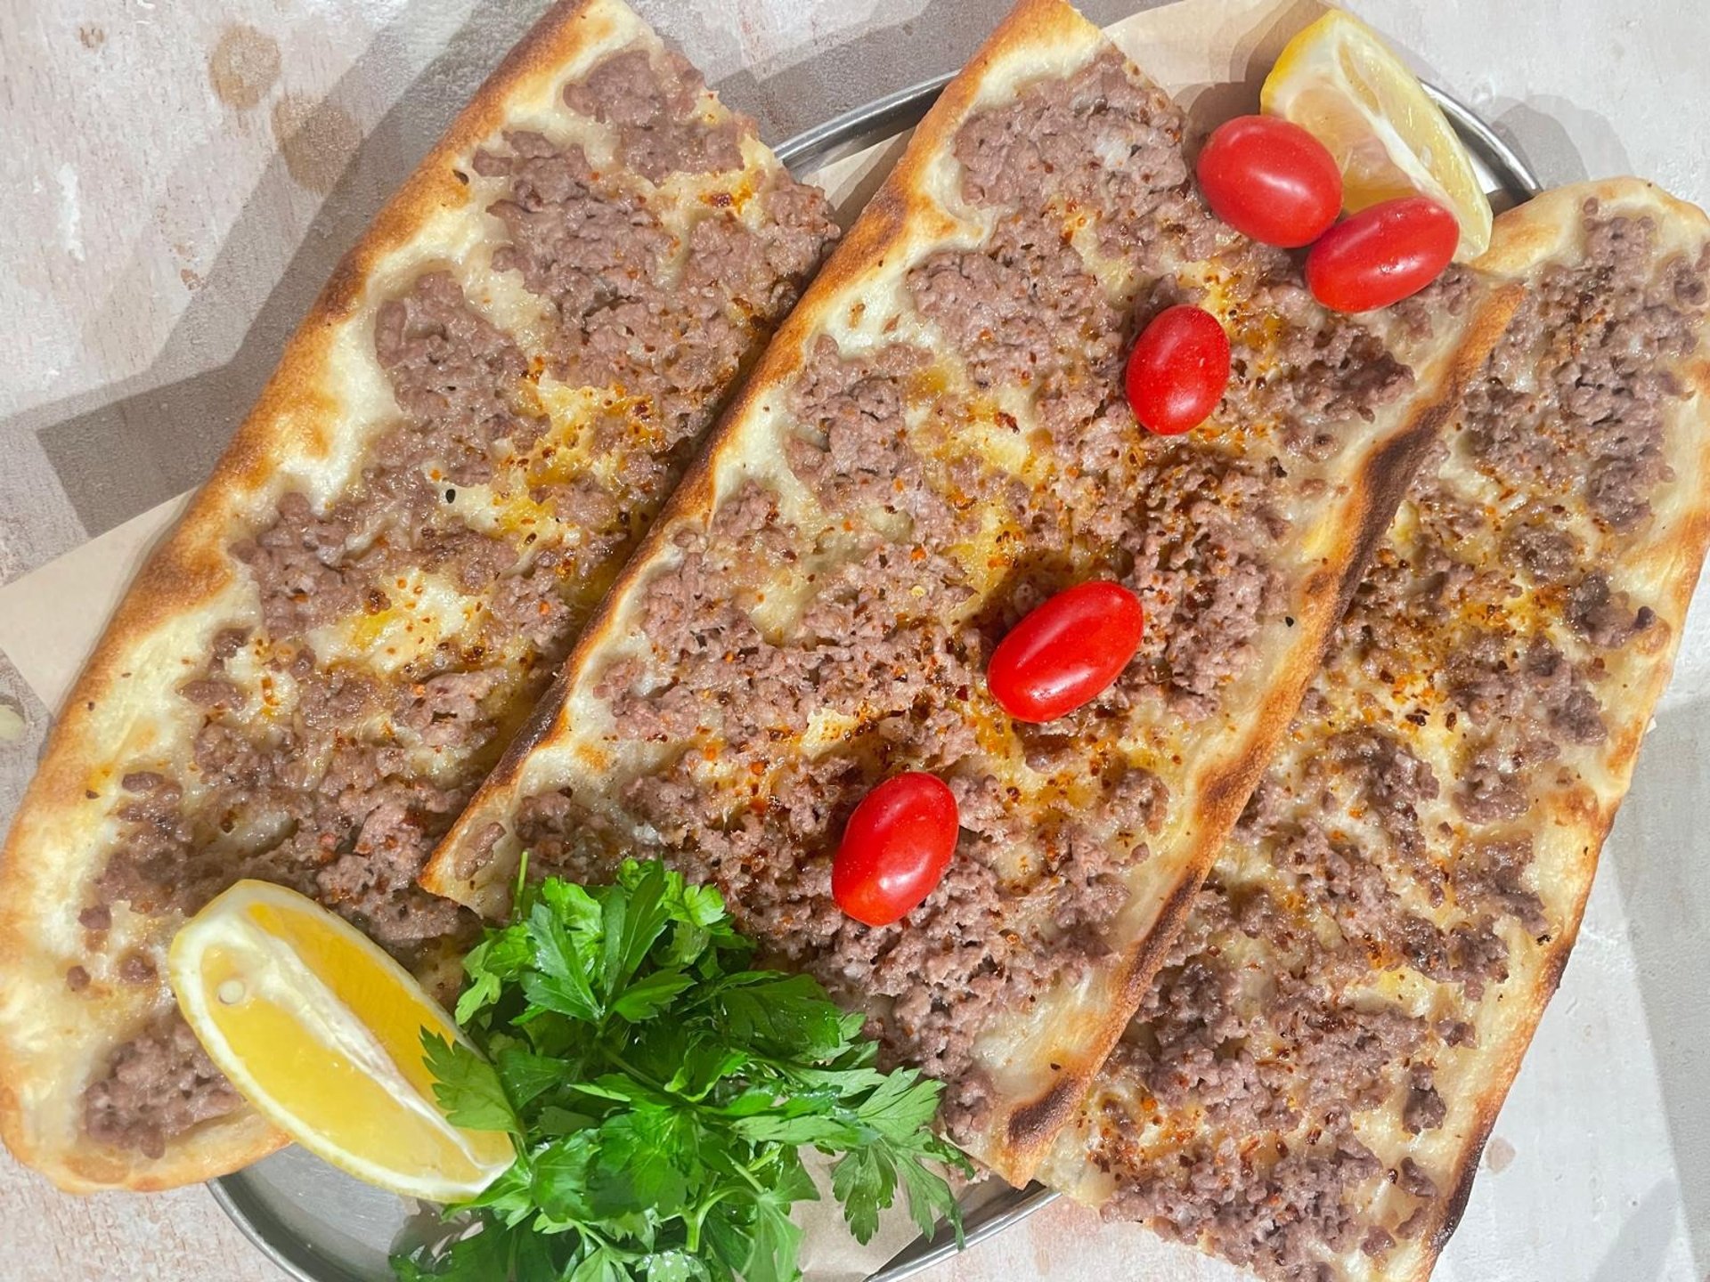
[[[1604,848],[1626,909],[1645,1026],[1657,1061],[1679,1202],[1698,1275],[1710,1268],[1710,826],[1688,798],[1710,797],[1710,701],[1666,709],[1647,735],[1633,791]],[[1571,983],[1571,966],[1568,967]],[[1652,1190],[1621,1238],[1657,1197]],[[1659,1219],[1662,1212],[1654,1212]],[[1659,1220],[1660,1224],[1660,1220]],[[1674,1224],[1652,1224],[1662,1238]],[[1597,1280],[1638,1279],[1614,1255]],[[1613,1270],[1613,1272],[1611,1272]]]

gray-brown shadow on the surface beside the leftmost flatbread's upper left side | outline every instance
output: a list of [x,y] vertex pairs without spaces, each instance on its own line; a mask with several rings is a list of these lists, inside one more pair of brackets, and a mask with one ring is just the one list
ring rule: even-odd
[[[386,77],[381,68],[409,62],[407,50],[421,39],[424,7],[409,5],[381,27],[327,101],[359,103],[368,85],[395,80],[395,74]],[[542,0],[477,5],[450,36],[352,152],[291,262],[248,318],[231,359],[164,386],[152,386],[144,371],[0,424],[0,429],[32,431],[62,475],[89,479],[91,484],[72,487],[70,497],[91,538],[207,479],[339,260],[474,96],[496,65],[494,51],[516,43],[542,9]],[[173,181],[198,181],[200,164],[203,157],[192,154]],[[265,241],[279,234],[277,207],[291,198],[292,181],[275,154],[154,366],[200,364],[205,356],[198,361],[198,354],[229,344],[231,335],[221,330],[233,323],[234,308],[243,308],[243,292],[253,289],[253,263],[263,256]],[[116,275],[121,282],[145,279],[142,270]],[[123,306],[120,287],[108,308]]]

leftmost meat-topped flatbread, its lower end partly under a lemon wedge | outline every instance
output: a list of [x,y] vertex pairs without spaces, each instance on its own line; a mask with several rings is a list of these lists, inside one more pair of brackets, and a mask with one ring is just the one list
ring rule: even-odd
[[55,726],[0,872],[21,1161],[150,1190],[284,1142],[159,978],[239,875],[445,974],[475,923],[416,872],[833,234],[621,0],[518,44],[339,267]]

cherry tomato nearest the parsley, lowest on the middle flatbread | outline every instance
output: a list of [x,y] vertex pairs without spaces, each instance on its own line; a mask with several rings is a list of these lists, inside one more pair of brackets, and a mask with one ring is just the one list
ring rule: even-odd
[[956,853],[956,797],[934,774],[896,774],[867,793],[831,862],[831,897],[869,926],[899,921],[932,894]]

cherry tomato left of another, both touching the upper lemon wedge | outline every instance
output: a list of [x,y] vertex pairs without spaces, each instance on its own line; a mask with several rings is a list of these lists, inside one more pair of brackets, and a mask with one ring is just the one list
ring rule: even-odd
[[1206,140],[1197,173],[1219,219],[1284,250],[1312,244],[1342,209],[1336,157],[1300,125],[1276,116],[1223,121]]

